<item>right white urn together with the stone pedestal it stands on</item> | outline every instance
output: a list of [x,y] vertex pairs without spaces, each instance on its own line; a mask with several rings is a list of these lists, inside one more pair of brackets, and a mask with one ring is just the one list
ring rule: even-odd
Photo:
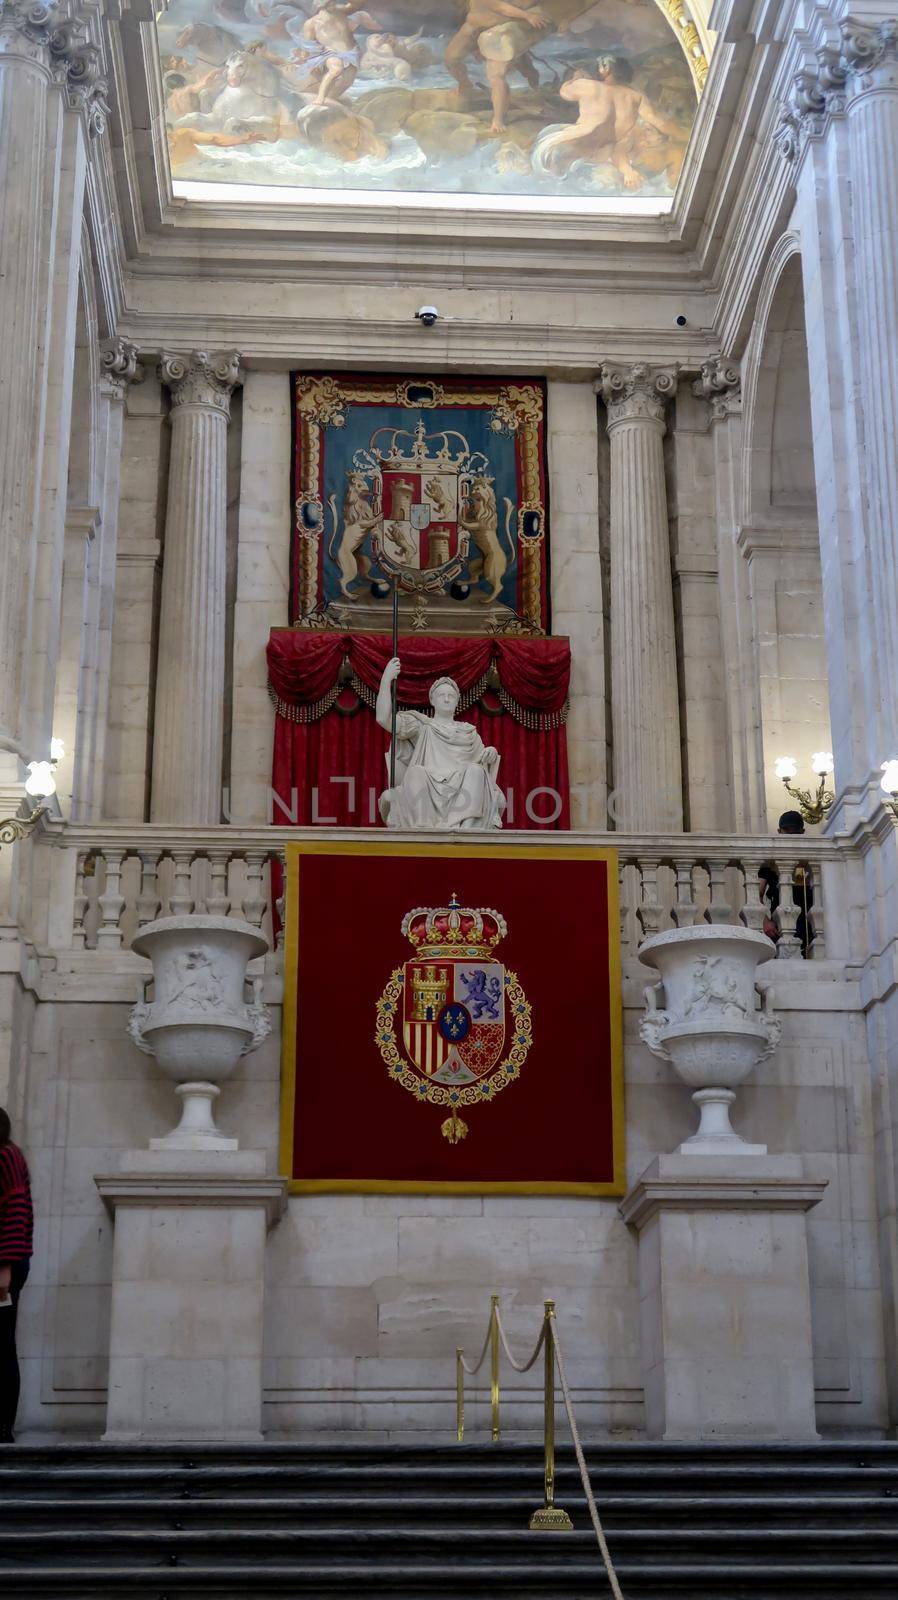
[[816,1438],[805,1214],[826,1189],[797,1155],[730,1125],[738,1085],[780,1043],[757,966],[775,946],[703,925],[647,939],[642,1038],[693,1091],[701,1120],[621,1203],[639,1235],[650,1438]]

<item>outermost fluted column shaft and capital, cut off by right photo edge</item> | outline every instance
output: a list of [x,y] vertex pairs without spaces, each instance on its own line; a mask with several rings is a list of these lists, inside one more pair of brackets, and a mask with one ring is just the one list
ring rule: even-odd
[[884,758],[898,750],[898,19],[844,24],[872,621]]

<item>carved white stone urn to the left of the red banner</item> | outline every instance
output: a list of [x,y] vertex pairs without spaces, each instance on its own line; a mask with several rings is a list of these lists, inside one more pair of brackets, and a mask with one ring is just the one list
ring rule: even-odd
[[174,1080],[182,1102],[181,1122],[163,1139],[150,1139],[152,1150],[239,1147],[216,1128],[213,1101],[240,1056],[271,1034],[261,978],[247,1002],[247,962],[267,947],[258,928],[235,917],[160,917],[131,941],[138,955],[149,955],[152,978],[141,979],[128,1032]]

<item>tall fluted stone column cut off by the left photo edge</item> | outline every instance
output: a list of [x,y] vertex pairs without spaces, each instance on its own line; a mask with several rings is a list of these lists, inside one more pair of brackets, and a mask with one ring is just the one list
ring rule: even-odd
[[40,430],[46,30],[0,8],[0,747],[21,736]]

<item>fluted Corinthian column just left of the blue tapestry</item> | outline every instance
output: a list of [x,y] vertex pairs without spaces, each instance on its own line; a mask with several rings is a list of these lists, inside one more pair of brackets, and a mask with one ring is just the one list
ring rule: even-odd
[[221,821],[227,421],[235,350],[163,354],[171,464],[152,747],[152,821]]

